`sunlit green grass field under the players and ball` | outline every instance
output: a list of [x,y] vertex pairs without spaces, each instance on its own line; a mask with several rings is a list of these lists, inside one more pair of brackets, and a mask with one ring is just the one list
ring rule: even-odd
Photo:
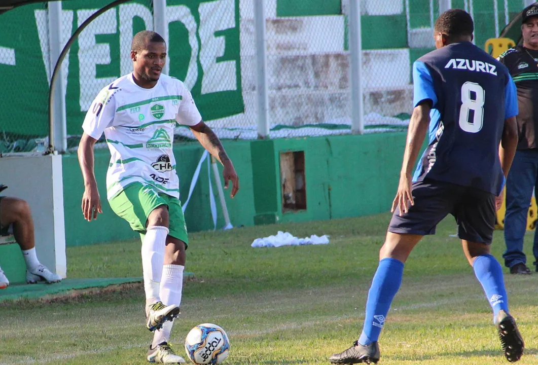
[[[364,307],[390,216],[236,228],[191,235],[182,314],[171,343],[184,355],[194,325],[229,334],[228,364],[328,364],[362,330]],[[251,248],[253,239],[288,231],[329,234],[319,246]],[[507,363],[490,306],[449,237],[453,219],[408,260],[383,333],[380,364]],[[529,261],[532,235],[526,237]],[[502,231],[493,254],[502,259]],[[68,248],[68,277],[141,276],[139,242]],[[507,270],[505,268],[505,273]],[[526,341],[521,364],[538,364],[538,274],[506,275],[509,306]],[[121,290],[120,290],[121,289]],[[144,292],[129,284],[46,302],[0,305],[0,364],[144,364],[151,334]]]

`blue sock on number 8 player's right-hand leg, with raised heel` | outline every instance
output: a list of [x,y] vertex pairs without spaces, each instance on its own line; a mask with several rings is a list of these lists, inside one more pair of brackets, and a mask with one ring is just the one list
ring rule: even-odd
[[481,255],[475,259],[473,269],[493,309],[493,321],[495,321],[501,309],[508,313],[508,297],[501,264],[492,255]]

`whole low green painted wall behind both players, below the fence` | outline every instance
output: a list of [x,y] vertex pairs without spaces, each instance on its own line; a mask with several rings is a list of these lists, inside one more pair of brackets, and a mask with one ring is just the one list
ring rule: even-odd
[[[406,133],[339,135],[296,139],[224,141],[239,175],[239,193],[233,199],[225,190],[233,226],[277,221],[307,221],[363,216],[390,209],[397,189]],[[282,213],[280,153],[304,151],[307,209]],[[203,149],[198,144],[174,148],[180,176],[181,201],[188,196],[190,181]],[[105,196],[108,149],[95,154],[95,171],[101,197]],[[221,169],[222,172],[222,169]],[[81,213],[82,175],[76,155],[63,159],[64,206],[67,246],[117,241],[137,237],[129,225],[102,201],[103,214],[87,222]],[[214,194],[217,194],[215,185]],[[224,226],[218,196],[217,228]],[[212,230],[209,208],[207,162],[187,206],[189,231]]]

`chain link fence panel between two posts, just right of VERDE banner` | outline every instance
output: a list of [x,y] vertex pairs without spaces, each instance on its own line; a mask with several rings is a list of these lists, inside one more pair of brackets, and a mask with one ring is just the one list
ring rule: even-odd
[[[334,133],[335,126],[349,124],[350,55],[342,6],[265,4],[271,137]],[[319,14],[322,10],[327,14]]]

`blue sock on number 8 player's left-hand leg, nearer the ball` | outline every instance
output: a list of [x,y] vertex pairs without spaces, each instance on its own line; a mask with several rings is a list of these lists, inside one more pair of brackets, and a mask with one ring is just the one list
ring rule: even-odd
[[392,299],[400,289],[402,276],[403,262],[391,258],[379,261],[366,300],[366,317],[363,333],[359,338],[360,345],[367,346],[379,339]]

